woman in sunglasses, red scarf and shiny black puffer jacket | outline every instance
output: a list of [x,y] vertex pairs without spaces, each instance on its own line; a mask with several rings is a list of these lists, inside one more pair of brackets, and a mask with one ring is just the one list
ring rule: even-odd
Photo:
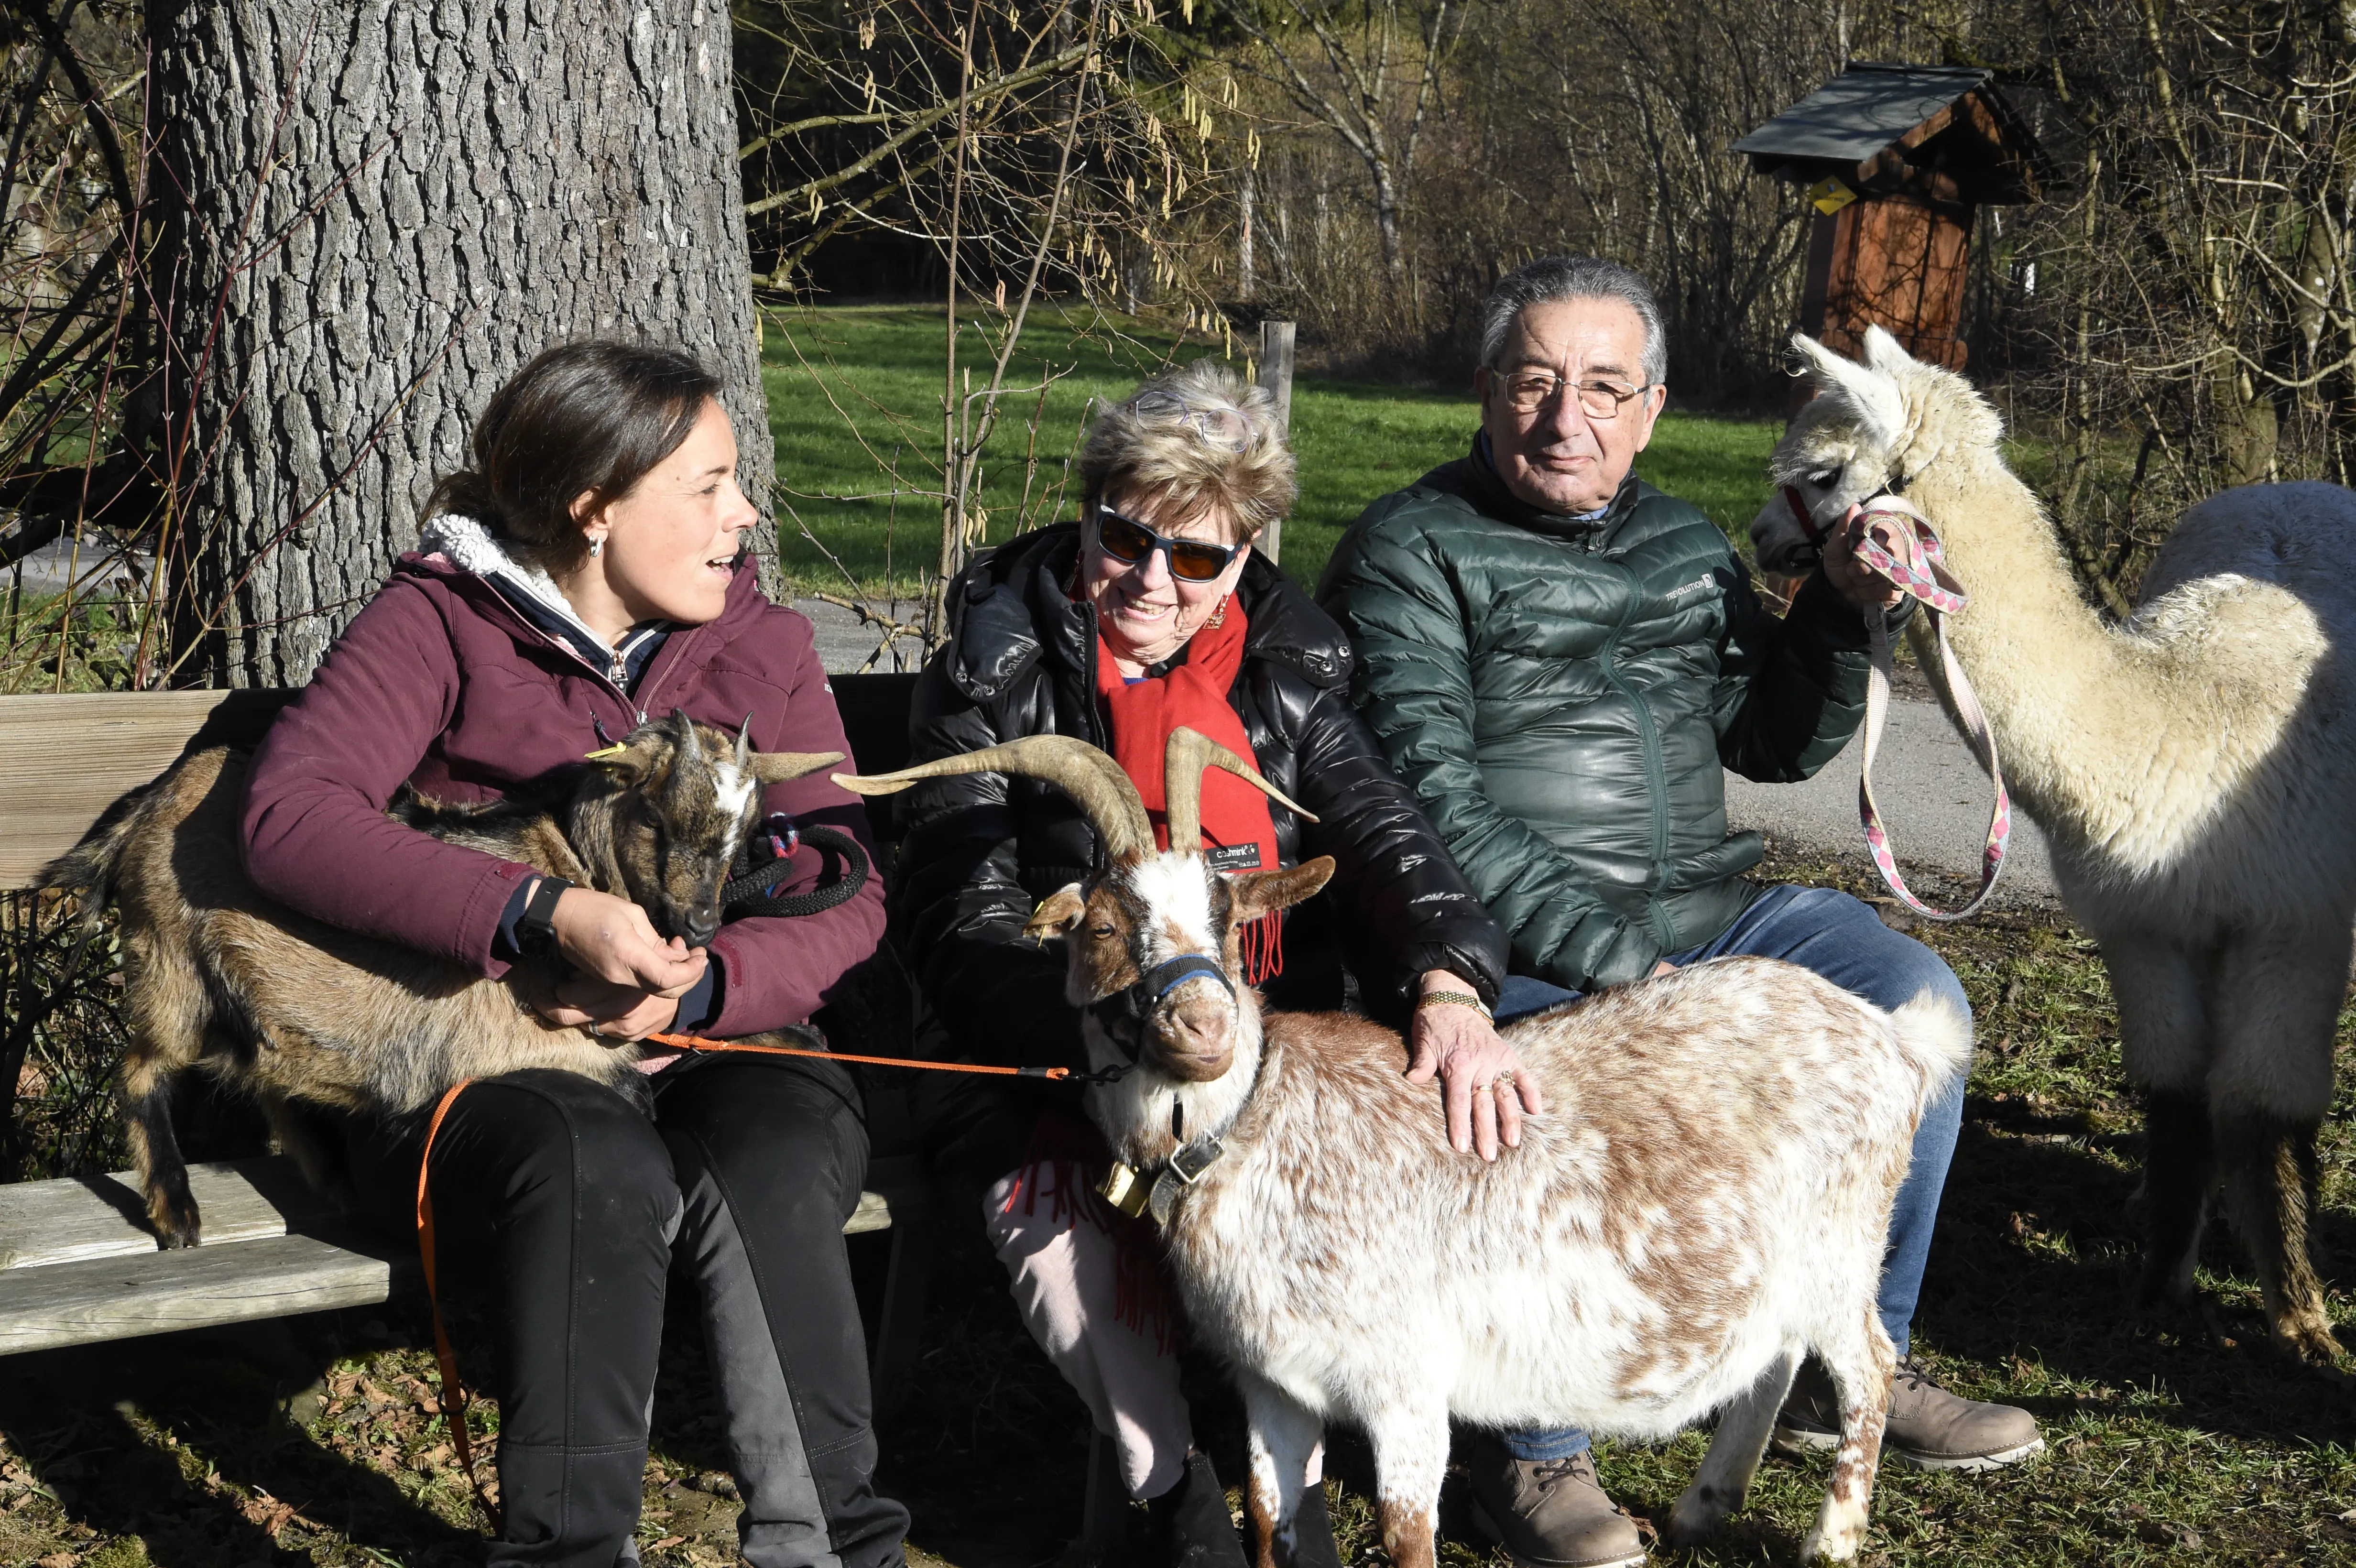
[[[1341,629],[1251,549],[1293,499],[1268,393],[1211,360],[1150,381],[1096,419],[1079,478],[1079,523],[1013,539],[949,586],[949,640],[909,720],[916,760],[1079,735],[1157,805],[1178,725],[1253,758],[1317,822],[1244,786],[1216,789],[1213,775],[1211,864],[1338,864],[1324,895],[1246,932],[1253,984],[1279,1008],[1341,1008],[1355,982],[1362,1010],[1409,1026],[1402,1071],[1447,1078],[1432,1116],[1447,1116],[1456,1147],[1496,1158],[1520,1140],[1522,1107],[1538,1109],[1487,1012],[1505,942],[1350,709]],[[1032,779],[928,779],[900,800],[893,918],[924,982],[933,1048],[1084,1067],[1063,958],[1023,937],[1023,923],[1103,864],[1096,833]],[[945,1081],[919,1090],[935,1163],[980,1189],[1023,1318],[1110,1439],[1126,1495],[1147,1500],[1154,1547],[1190,1568],[1242,1568],[1218,1476],[1192,1448],[1159,1241],[1093,1196],[1107,1154],[1077,1092],[926,1078]],[[1491,1092],[1501,1081],[1513,1088]],[[1310,1500],[1301,1561],[1333,1563],[1322,1493]]]

